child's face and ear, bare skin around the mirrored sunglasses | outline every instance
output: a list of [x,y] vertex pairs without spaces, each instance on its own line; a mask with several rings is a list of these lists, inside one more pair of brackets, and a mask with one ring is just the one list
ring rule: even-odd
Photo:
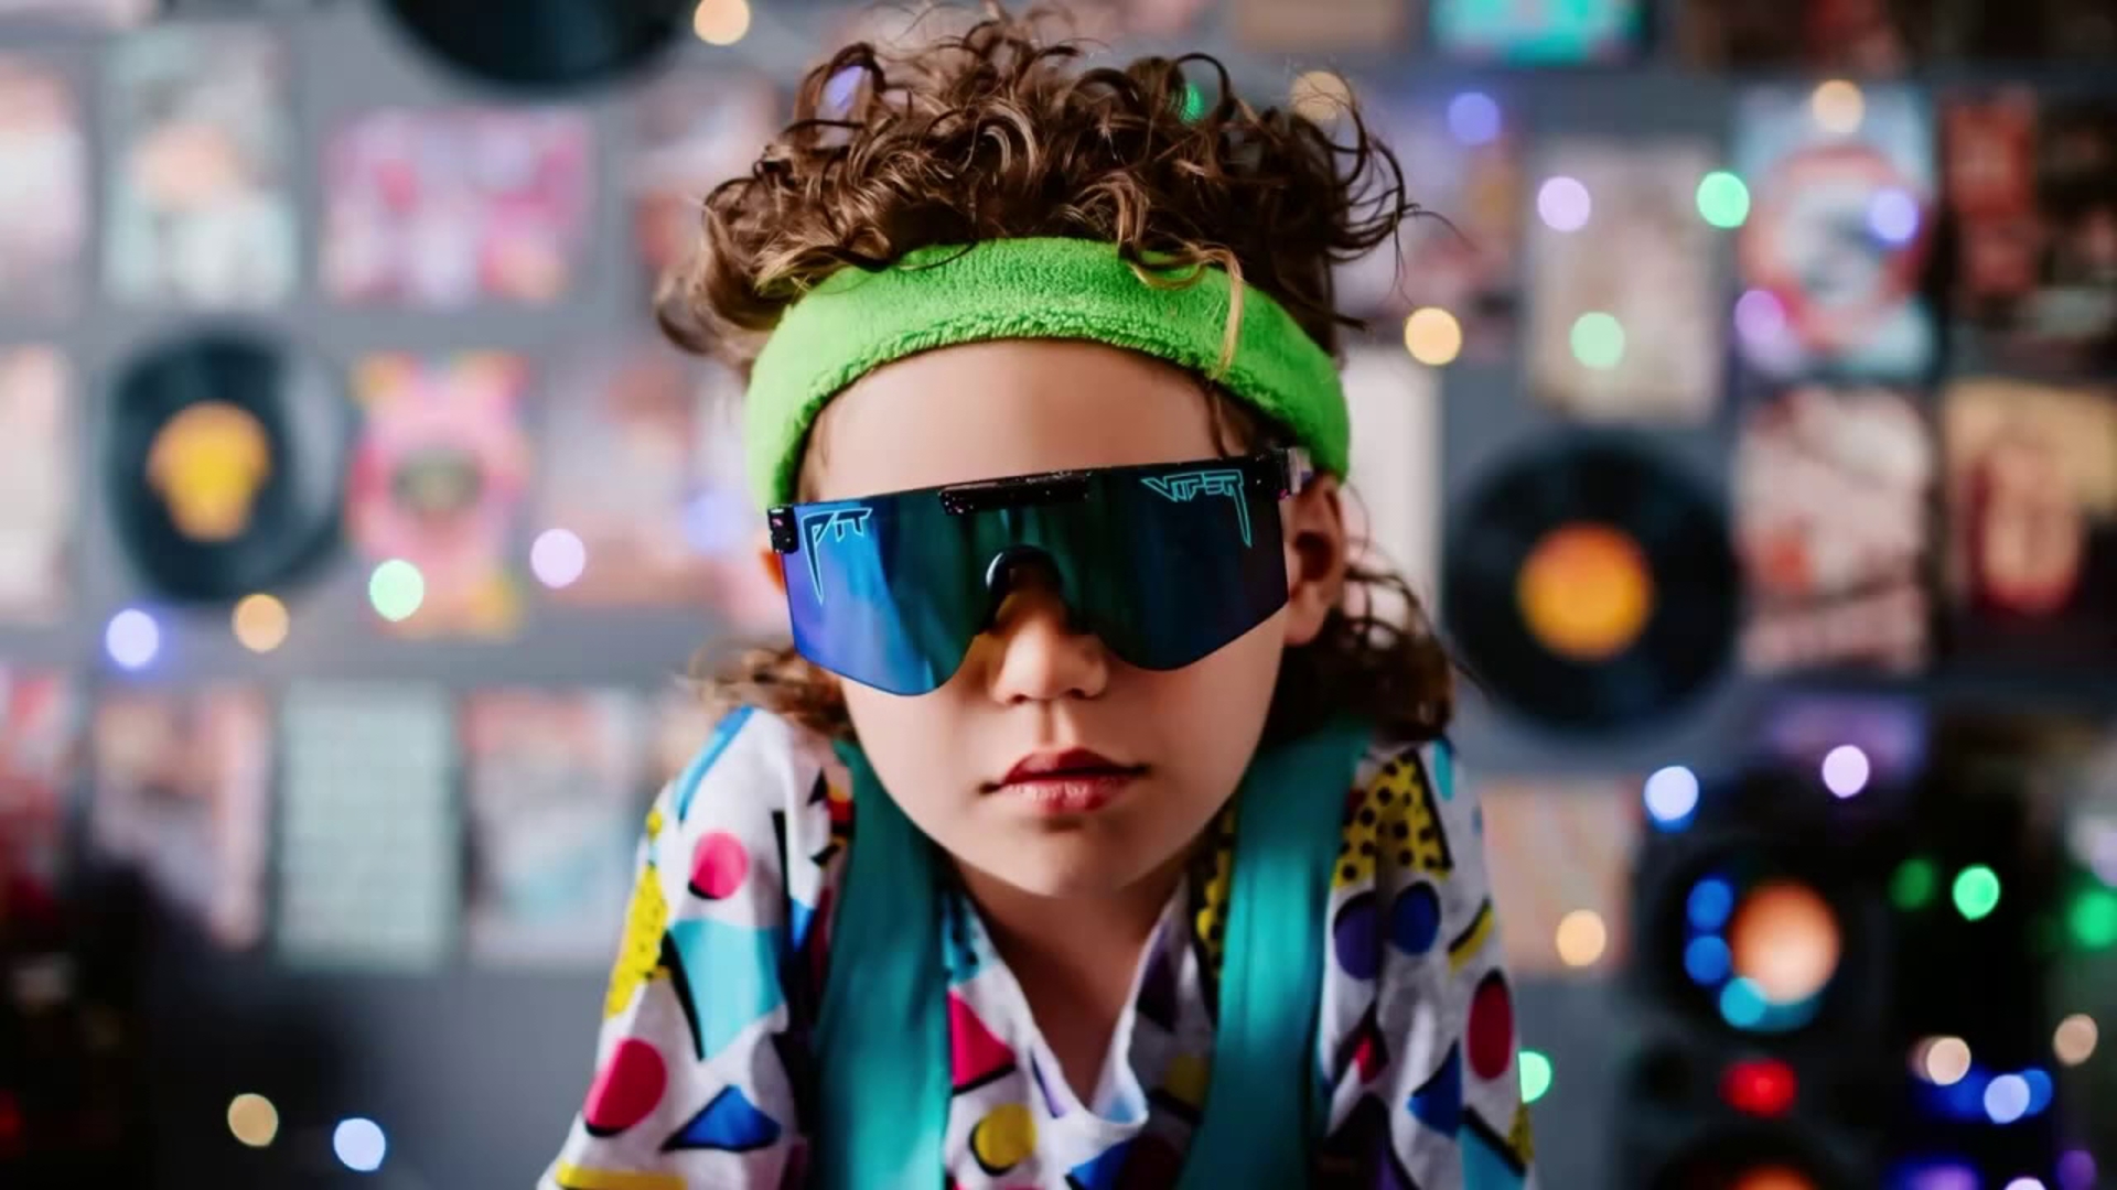
[[[1219,453],[1205,392],[1173,366],[1094,343],[974,343],[879,368],[830,402],[809,438],[802,498]],[[1342,587],[1336,485],[1287,500],[1281,521],[1287,606],[1186,669],[1118,661],[1069,631],[1058,597],[1029,580],[940,690],[847,682],[876,775],[959,862],[1023,891],[1116,894],[1166,872],[1249,764],[1281,654],[1317,635]],[[1023,758],[1073,747],[1143,771],[1088,813],[1054,815],[997,788]]]

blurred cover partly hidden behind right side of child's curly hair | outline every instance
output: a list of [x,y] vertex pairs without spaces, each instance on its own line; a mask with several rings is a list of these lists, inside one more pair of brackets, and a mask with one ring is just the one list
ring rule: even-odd
[[1461,324],[1467,358],[1497,360],[1514,332],[1522,235],[1512,114],[1473,91],[1397,100],[1363,91],[1361,119],[1395,150],[1406,197],[1429,216],[1338,269],[1340,311],[1387,322],[1440,307]]

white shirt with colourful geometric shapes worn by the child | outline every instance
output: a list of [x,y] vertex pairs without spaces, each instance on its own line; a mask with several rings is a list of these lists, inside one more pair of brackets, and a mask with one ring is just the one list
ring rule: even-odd
[[[1346,798],[1321,978],[1329,1131],[1315,1186],[1524,1190],[1528,1116],[1482,824],[1431,752],[1370,747]],[[855,807],[830,745],[764,711],[720,724],[648,815],[597,1074],[540,1190],[796,1188],[802,1044]],[[1086,1099],[967,898],[948,898],[953,1190],[1164,1190],[1213,1063],[1234,811],[1133,974]]]

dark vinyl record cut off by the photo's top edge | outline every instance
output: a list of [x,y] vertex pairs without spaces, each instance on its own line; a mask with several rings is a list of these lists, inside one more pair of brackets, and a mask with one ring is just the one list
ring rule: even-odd
[[574,91],[631,76],[669,51],[686,0],[383,0],[449,66],[502,87]]

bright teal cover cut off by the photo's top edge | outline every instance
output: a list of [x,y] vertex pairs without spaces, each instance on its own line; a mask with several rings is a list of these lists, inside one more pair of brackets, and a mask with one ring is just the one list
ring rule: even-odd
[[1641,0],[1431,0],[1433,47],[1507,64],[1622,61],[1645,30]]

